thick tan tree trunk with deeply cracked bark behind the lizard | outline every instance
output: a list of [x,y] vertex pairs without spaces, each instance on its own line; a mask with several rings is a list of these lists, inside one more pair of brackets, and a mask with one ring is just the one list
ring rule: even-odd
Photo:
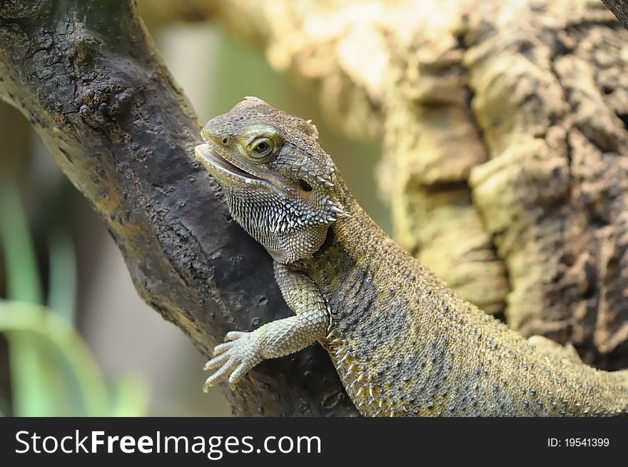
[[628,35],[602,2],[167,3],[383,138],[395,238],[463,296],[628,366]]

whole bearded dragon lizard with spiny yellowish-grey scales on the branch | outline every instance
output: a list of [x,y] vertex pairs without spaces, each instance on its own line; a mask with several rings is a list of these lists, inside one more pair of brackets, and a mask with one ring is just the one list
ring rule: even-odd
[[365,416],[628,413],[628,371],[532,345],[397,246],[351,196],[310,122],[247,98],[202,136],[197,158],[275,259],[295,311],[228,333],[206,388],[319,341]]

